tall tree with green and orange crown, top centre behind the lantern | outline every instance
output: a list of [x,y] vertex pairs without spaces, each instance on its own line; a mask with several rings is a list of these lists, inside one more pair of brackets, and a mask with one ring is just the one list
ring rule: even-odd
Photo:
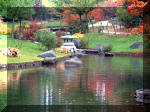
[[[61,0],[65,10],[70,10],[70,14],[77,14],[81,25],[81,32],[88,32],[88,13],[95,9],[93,7],[98,0]],[[57,3],[56,3],[57,4]]]

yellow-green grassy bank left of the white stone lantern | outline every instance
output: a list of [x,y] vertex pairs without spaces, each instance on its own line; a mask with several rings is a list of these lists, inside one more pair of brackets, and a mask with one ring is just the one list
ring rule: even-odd
[[[16,45],[18,45],[20,47],[19,50],[20,53],[22,54],[22,57],[0,56],[0,64],[23,63],[23,62],[33,62],[43,60],[43,58],[37,57],[37,55],[44,52],[44,50],[40,49],[40,46],[38,44],[23,40],[7,38],[6,35],[1,36],[1,38],[2,40],[0,41],[0,48],[6,47],[16,48]],[[56,53],[56,56],[64,57],[67,56],[67,54]]]

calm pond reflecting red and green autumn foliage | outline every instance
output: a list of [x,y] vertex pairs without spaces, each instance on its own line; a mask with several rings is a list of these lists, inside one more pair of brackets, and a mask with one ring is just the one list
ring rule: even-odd
[[[7,105],[135,105],[143,86],[143,59],[135,57],[81,58],[83,66],[64,62],[9,70],[0,83],[1,104]],[[2,77],[2,75],[1,75]],[[6,78],[8,80],[6,80]],[[2,78],[1,78],[2,79]],[[7,88],[7,99],[6,97]],[[4,102],[2,102],[4,101]]]

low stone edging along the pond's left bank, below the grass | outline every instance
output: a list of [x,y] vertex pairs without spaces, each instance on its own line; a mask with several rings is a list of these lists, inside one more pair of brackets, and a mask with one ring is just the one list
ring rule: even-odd
[[[64,61],[69,56],[61,57],[56,59],[56,63]],[[25,62],[25,63],[14,63],[14,64],[0,64],[0,70],[10,70],[10,69],[21,69],[21,68],[31,68],[31,67],[40,67],[44,65],[44,61],[35,61],[35,62]]]

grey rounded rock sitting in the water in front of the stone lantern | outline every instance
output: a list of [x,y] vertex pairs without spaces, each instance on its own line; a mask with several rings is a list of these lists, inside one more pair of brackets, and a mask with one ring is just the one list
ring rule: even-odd
[[65,61],[65,65],[82,65],[82,61],[78,57],[71,58]]

